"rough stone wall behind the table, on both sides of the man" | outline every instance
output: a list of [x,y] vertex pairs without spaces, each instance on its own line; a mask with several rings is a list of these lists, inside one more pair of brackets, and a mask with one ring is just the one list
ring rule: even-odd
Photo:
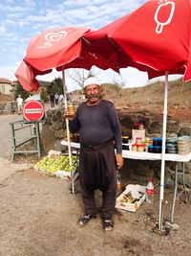
[[[162,115],[153,115],[150,112],[134,112],[124,113],[117,111],[121,130],[125,135],[131,137],[132,128],[135,123],[143,123],[147,137],[159,137],[162,132]],[[60,144],[60,141],[67,138],[66,123],[62,118],[63,109],[53,108],[46,113],[46,123],[42,128],[41,142],[44,153],[50,150],[67,151],[67,147]],[[176,133],[179,135],[191,135],[191,126],[189,123],[180,123],[178,120],[172,120],[168,117],[167,122],[168,133]],[[160,175],[160,161],[142,161],[125,159],[124,168],[128,175],[155,176]],[[166,162],[165,164],[165,182],[168,182],[174,177],[175,163]],[[182,177],[179,176],[180,183]],[[191,186],[191,163],[185,164],[185,181],[188,186]]]

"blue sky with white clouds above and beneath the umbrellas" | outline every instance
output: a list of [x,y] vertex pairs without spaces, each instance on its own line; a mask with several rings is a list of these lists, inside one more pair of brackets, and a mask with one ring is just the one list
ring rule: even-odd
[[[52,27],[89,27],[100,29],[117,18],[138,9],[146,0],[1,0],[0,2],[0,78],[15,81],[14,73],[25,57],[33,36]],[[95,69],[94,69],[95,70]],[[125,87],[148,83],[145,72],[128,67],[116,72],[97,70],[100,82],[123,81]],[[43,81],[61,77],[54,71],[38,76]],[[73,81],[66,78],[68,87]],[[72,90],[72,89],[71,89]]]

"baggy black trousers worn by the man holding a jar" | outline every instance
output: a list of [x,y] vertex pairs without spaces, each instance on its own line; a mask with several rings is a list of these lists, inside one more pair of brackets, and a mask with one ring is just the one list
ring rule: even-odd
[[85,214],[96,216],[95,190],[99,189],[102,218],[111,219],[117,198],[117,162],[112,141],[95,147],[80,146],[79,180]]

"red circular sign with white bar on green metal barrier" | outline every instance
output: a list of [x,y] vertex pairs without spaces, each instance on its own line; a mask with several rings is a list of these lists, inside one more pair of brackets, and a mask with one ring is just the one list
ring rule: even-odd
[[44,105],[38,101],[29,101],[23,106],[23,117],[28,121],[41,120],[44,114]]

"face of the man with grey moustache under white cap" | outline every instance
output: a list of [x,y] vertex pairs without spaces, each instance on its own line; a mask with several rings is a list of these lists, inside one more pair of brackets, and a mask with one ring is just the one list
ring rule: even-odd
[[101,87],[97,84],[90,84],[85,87],[84,92],[89,103],[96,104],[100,98]]

